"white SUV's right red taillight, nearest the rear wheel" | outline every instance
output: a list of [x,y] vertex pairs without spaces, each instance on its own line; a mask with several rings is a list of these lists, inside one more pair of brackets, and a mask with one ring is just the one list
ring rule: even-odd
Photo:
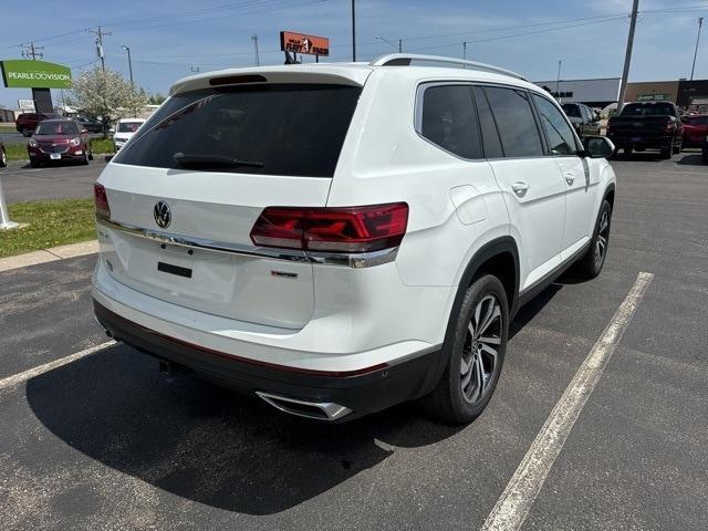
[[304,251],[371,252],[400,244],[408,225],[408,205],[367,207],[268,207],[251,229],[260,247]]

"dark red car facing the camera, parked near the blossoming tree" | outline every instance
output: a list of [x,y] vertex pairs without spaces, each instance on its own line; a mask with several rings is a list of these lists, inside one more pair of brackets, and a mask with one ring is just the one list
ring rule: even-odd
[[33,168],[42,163],[74,160],[88,164],[93,159],[88,134],[73,119],[40,122],[27,145],[27,152]]

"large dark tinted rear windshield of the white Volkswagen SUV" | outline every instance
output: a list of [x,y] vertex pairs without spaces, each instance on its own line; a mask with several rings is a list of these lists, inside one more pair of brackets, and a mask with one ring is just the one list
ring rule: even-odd
[[175,155],[184,154],[248,162],[198,169],[332,177],[360,94],[360,87],[322,84],[178,94],[140,127],[114,162],[180,168]]

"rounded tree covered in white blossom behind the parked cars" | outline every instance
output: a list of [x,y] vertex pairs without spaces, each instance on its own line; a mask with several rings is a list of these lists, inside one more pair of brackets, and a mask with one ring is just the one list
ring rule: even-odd
[[100,118],[107,132],[112,122],[143,111],[148,98],[143,88],[134,88],[118,72],[96,66],[74,81],[67,101],[72,107]]

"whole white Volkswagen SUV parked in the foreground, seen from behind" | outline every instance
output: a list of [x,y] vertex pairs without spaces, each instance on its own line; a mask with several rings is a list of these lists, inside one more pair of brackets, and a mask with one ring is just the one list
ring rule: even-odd
[[603,268],[604,157],[520,75],[452,59],[178,81],[95,185],[110,335],[294,415],[425,398],[467,423],[509,323]]

